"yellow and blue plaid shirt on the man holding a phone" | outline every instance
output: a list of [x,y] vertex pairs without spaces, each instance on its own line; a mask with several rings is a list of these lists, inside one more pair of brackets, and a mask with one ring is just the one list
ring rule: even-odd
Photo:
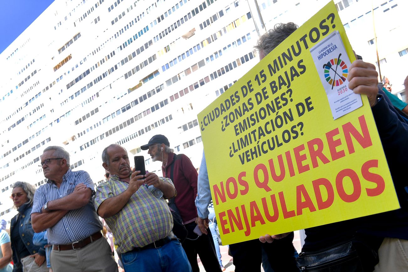
[[[159,177],[161,181],[170,179]],[[109,181],[96,188],[95,209],[105,199],[120,195],[129,184],[111,175]],[[105,218],[113,232],[118,253],[125,253],[136,247],[149,245],[154,241],[167,237],[173,228],[173,217],[163,193],[153,185],[142,185],[132,195],[126,205],[116,215]]]

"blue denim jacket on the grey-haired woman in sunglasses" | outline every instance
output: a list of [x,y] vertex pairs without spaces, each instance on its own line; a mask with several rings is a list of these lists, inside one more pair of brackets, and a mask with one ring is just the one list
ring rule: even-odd
[[[13,217],[11,219],[10,223],[10,233],[13,231],[13,228],[19,228],[20,232],[20,239],[23,241],[25,247],[31,254],[38,253],[42,256],[45,256],[45,250],[43,247],[40,247],[38,245],[34,245],[33,243],[33,235],[34,235],[34,230],[33,227],[31,226],[31,209],[33,207],[33,204],[25,203],[20,208],[17,209],[18,215]],[[20,216],[20,226],[15,226],[16,221],[18,216]],[[18,252],[16,252],[16,248],[14,245],[13,239],[11,239],[11,249],[13,250],[13,262],[14,262],[14,267],[13,271],[21,271],[22,266],[21,266],[21,261],[20,257],[18,256]]]

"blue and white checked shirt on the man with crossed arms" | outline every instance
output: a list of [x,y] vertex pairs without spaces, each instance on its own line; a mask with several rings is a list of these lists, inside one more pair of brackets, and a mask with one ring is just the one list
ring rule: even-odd
[[[85,184],[93,191],[93,182],[89,174],[85,171],[71,171],[62,177],[62,184],[58,188],[55,183],[48,180],[46,184],[41,185],[34,194],[33,209],[31,214],[41,212],[42,207],[47,201],[60,199],[71,194],[75,186]],[[48,242],[53,245],[64,245],[80,241],[93,233],[102,230],[102,223],[93,207],[93,197],[85,206],[70,210],[54,226],[47,229]]]

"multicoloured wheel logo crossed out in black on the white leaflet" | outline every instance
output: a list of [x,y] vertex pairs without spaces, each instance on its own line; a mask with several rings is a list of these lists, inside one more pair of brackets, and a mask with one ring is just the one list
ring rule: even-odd
[[347,64],[341,60],[341,53],[339,57],[329,60],[326,64],[323,64],[324,78],[332,86],[340,86],[346,81],[348,75]]

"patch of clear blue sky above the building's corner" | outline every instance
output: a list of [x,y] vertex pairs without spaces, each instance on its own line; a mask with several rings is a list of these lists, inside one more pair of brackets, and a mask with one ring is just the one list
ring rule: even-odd
[[5,0],[0,9],[0,53],[11,44],[53,0]]

